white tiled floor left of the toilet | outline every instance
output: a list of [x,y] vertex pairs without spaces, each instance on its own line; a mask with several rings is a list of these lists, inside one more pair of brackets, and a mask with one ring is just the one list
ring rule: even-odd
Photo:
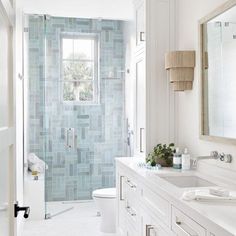
[[[49,206],[55,209],[57,204],[61,208],[62,203],[54,202]],[[94,202],[64,203],[64,205],[73,209],[56,215],[52,219],[26,221],[23,236],[115,236],[115,234],[100,232],[100,217],[96,215]]]

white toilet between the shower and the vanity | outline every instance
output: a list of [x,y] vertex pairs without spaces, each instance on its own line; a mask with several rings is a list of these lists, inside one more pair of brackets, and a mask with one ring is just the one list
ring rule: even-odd
[[116,189],[104,188],[93,191],[93,199],[101,214],[100,229],[103,233],[116,232]]

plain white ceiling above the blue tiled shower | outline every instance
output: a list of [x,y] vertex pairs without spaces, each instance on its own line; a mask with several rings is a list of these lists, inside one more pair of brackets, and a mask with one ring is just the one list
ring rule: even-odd
[[62,17],[133,19],[132,0],[23,0],[23,9]]

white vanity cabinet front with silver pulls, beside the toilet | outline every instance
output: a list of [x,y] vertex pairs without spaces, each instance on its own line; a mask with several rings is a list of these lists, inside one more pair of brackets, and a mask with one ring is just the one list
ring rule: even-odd
[[173,200],[175,196],[171,193],[165,193],[158,185],[153,186],[149,175],[141,168],[140,172],[130,168],[130,162],[125,165],[116,161],[118,236],[235,235],[221,225],[203,220],[204,215],[196,215],[194,210],[188,209],[186,213],[179,197]]

